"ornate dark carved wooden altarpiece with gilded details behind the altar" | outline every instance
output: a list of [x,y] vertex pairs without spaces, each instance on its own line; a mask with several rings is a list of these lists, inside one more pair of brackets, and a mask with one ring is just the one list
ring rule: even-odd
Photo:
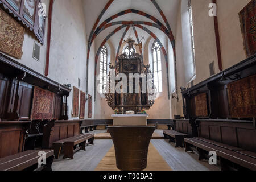
[[[150,109],[150,107],[154,104],[154,96],[155,92],[148,93],[148,89],[146,93],[142,93],[142,78],[139,80],[139,93],[135,93],[135,80],[133,80],[133,93],[129,93],[129,74],[139,75],[145,74],[148,76],[148,73],[151,73],[150,65],[144,65],[142,61],[142,56],[133,51],[133,46],[129,47],[129,53],[123,53],[118,56],[118,62],[115,63],[115,67],[110,65],[110,69],[115,69],[115,76],[119,73],[123,73],[127,78],[127,93],[111,93],[110,92],[110,72],[109,72],[109,84],[108,91],[109,93],[105,94],[108,105],[112,107],[113,110],[118,109],[119,113],[125,113],[126,111],[134,111],[135,113],[141,113],[142,109]],[[147,79],[148,80],[148,79]],[[152,83],[154,83],[154,78],[151,77]],[[119,81],[115,81],[115,86]],[[147,82],[147,81],[146,81]],[[148,82],[146,83],[148,87]],[[154,84],[152,84],[152,88],[154,88]]]

